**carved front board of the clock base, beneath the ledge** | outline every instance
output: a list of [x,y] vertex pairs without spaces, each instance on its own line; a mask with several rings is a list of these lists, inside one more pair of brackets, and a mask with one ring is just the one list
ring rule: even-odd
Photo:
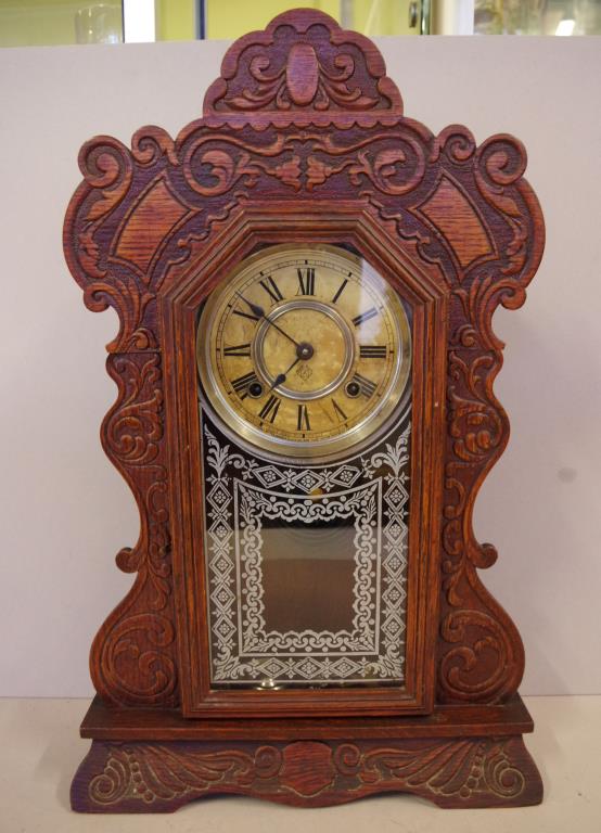
[[537,803],[541,786],[521,738],[385,745],[95,741],[76,777],[72,800],[76,809],[116,812],[172,810],[212,793],[327,806],[391,791],[414,793],[440,806],[502,807]]

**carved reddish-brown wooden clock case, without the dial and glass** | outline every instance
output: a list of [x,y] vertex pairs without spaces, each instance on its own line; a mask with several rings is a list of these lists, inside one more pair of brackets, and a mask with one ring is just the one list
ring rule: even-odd
[[[509,435],[493,393],[500,304],[515,309],[544,225],[511,136],[476,146],[402,115],[382,56],[329,16],[287,12],[238,40],[203,118],[174,141],[97,137],[64,229],[86,305],[112,306],[117,401],[104,449],[138,502],[117,555],[135,582],[91,651],[98,691],[74,809],[170,811],[215,793],[323,806],[398,791],[444,807],[541,800],[522,735],[520,635],[482,584],[472,530]],[[194,321],[267,243],[351,245],[414,310],[407,681],[401,690],[212,691],[202,593]],[[196,410],[195,410],[196,409]]]

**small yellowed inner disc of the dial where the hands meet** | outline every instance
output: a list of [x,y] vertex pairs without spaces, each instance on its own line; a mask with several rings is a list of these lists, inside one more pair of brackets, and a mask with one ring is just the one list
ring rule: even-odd
[[355,360],[355,341],[345,319],[328,304],[290,300],[261,320],[253,354],[269,388],[310,401],[341,386]]

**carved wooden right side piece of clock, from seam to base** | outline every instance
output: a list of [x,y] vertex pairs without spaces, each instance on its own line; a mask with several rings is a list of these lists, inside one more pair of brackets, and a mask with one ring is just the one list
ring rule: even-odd
[[[479,309],[476,307],[476,309]],[[439,696],[443,701],[497,702],[513,693],[523,672],[519,633],[478,579],[497,553],[472,530],[477,487],[507,441],[507,418],[491,392],[500,356],[470,349],[473,328],[462,328],[449,353],[449,447],[443,526],[444,615]],[[468,349],[464,349],[465,344]]]

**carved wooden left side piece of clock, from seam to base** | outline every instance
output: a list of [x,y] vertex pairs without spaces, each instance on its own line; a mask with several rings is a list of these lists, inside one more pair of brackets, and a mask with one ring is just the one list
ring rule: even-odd
[[117,555],[118,566],[137,577],[94,640],[92,676],[107,702],[172,704],[176,629],[159,357],[113,356],[108,369],[119,394],[104,421],[103,443],[138,499],[141,533],[133,549]]

